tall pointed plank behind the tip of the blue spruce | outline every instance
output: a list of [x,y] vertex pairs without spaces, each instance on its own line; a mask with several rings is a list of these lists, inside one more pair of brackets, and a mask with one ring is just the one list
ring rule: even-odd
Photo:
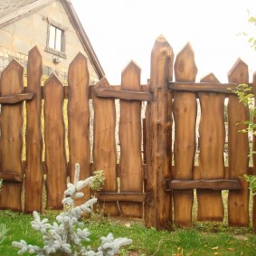
[[[89,137],[89,71],[86,57],[79,52],[71,62],[68,83],[68,119],[69,119],[69,174],[71,182],[74,180],[75,164],[81,166],[80,179],[90,176],[90,137]],[[78,204],[90,198],[90,189],[83,190],[85,194]]]

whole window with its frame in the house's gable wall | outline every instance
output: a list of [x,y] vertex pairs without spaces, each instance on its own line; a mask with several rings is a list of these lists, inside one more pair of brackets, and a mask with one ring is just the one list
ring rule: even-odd
[[46,52],[66,58],[65,54],[65,28],[61,24],[49,21]]

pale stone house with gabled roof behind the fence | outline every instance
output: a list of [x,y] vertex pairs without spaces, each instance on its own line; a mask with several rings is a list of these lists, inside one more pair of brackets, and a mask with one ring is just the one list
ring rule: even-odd
[[88,59],[90,84],[104,76],[71,0],[0,0],[0,71],[14,58],[26,67],[37,45],[43,56],[44,80],[54,71],[67,81],[78,52]]

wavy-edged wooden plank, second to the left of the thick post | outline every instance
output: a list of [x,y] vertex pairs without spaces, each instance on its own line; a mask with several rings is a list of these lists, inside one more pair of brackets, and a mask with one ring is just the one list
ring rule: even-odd
[[[110,88],[106,78],[100,80],[95,89]],[[93,98],[94,130],[93,130],[93,169],[104,170],[106,177],[102,191],[117,192],[117,147],[116,147],[116,108],[115,100]],[[101,201],[105,202],[103,198]],[[107,202],[107,201],[106,201]],[[118,215],[117,202],[103,205],[104,213]]]

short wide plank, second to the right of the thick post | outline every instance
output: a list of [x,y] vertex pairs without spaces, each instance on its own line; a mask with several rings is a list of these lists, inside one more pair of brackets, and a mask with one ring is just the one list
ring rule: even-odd
[[[219,83],[213,73],[201,81],[214,82],[216,87]],[[199,92],[198,96],[201,105],[199,176],[200,179],[223,179],[225,95],[223,93]],[[221,191],[198,189],[197,201],[198,221],[223,221],[224,208]]]

